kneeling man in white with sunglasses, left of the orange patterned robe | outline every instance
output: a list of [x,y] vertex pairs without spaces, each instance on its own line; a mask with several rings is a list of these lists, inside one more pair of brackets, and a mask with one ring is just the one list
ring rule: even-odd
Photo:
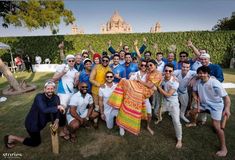
[[113,82],[113,72],[108,71],[105,76],[106,82],[104,84],[104,87],[101,87],[99,89],[99,106],[101,118],[106,122],[107,128],[111,129],[113,128],[114,117],[117,116],[118,110],[109,106],[107,102],[117,84]]

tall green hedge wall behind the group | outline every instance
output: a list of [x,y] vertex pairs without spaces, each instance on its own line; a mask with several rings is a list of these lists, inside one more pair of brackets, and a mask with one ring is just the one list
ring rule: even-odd
[[[133,41],[139,40],[141,45],[143,38],[147,39],[147,50],[153,51],[153,43],[165,54],[170,45],[177,47],[176,57],[180,51],[187,51],[192,55],[192,50],[186,46],[191,39],[197,48],[205,48],[212,57],[212,62],[229,66],[232,58],[231,48],[235,46],[235,31],[223,32],[165,32],[165,33],[133,33],[133,34],[93,34],[93,35],[58,35],[58,36],[34,36],[34,37],[2,37],[0,42],[11,46],[13,54],[29,54],[31,57],[40,55],[42,59],[49,57],[53,63],[60,63],[58,44],[64,41],[65,53],[74,54],[88,49],[88,44],[99,53],[107,51],[107,42],[112,40],[114,48],[120,41],[133,49]],[[0,50],[0,56],[5,61],[10,61],[9,51]],[[34,59],[34,58],[33,58]]]

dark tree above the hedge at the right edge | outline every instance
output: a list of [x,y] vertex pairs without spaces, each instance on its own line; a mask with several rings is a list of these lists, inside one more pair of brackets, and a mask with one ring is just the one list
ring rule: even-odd
[[217,24],[212,28],[212,30],[235,30],[235,15],[231,16],[230,18],[225,17],[223,19],[219,19]]

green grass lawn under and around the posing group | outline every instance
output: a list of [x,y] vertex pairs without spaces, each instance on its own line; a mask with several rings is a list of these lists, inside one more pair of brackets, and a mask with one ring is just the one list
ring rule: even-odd
[[[235,70],[224,70],[225,81],[235,83]],[[16,73],[18,80],[27,80],[37,85],[37,90],[18,96],[7,97],[6,102],[0,103],[0,138],[6,134],[27,136],[24,128],[24,119],[28,113],[36,93],[41,92],[44,82],[52,77],[52,73]],[[7,85],[5,78],[0,78],[0,90]],[[17,145],[14,149],[4,148],[0,140],[0,159],[4,159],[6,153],[21,154],[20,159],[114,159],[114,160],[204,160],[204,159],[235,159],[235,89],[227,90],[232,100],[231,112],[227,128],[225,130],[226,142],[229,153],[226,158],[218,158],[215,152],[219,148],[216,134],[212,131],[211,120],[205,126],[185,128],[183,124],[183,147],[175,149],[175,134],[171,119],[164,115],[162,123],[152,124],[155,135],[151,136],[146,128],[146,122],[142,123],[141,134],[134,136],[126,133],[124,137],[118,135],[118,128],[108,130],[104,122],[99,123],[99,129],[81,128],[77,132],[78,142],[72,144],[60,139],[60,154],[51,152],[51,138],[48,126],[41,132],[42,144],[31,148]],[[209,117],[209,116],[208,116]]]

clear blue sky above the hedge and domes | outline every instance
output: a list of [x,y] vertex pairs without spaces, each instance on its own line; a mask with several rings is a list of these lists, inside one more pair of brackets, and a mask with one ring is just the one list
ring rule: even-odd
[[[99,34],[100,26],[116,10],[137,33],[149,32],[156,22],[160,22],[162,32],[211,31],[219,19],[235,12],[235,0],[65,0],[64,3],[85,34]],[[58,35],[71,34],[71,28],[61,23]],[[52,35],[52,32],[49,28],[29,31],[0,26],[0,37],[37,35]]]

